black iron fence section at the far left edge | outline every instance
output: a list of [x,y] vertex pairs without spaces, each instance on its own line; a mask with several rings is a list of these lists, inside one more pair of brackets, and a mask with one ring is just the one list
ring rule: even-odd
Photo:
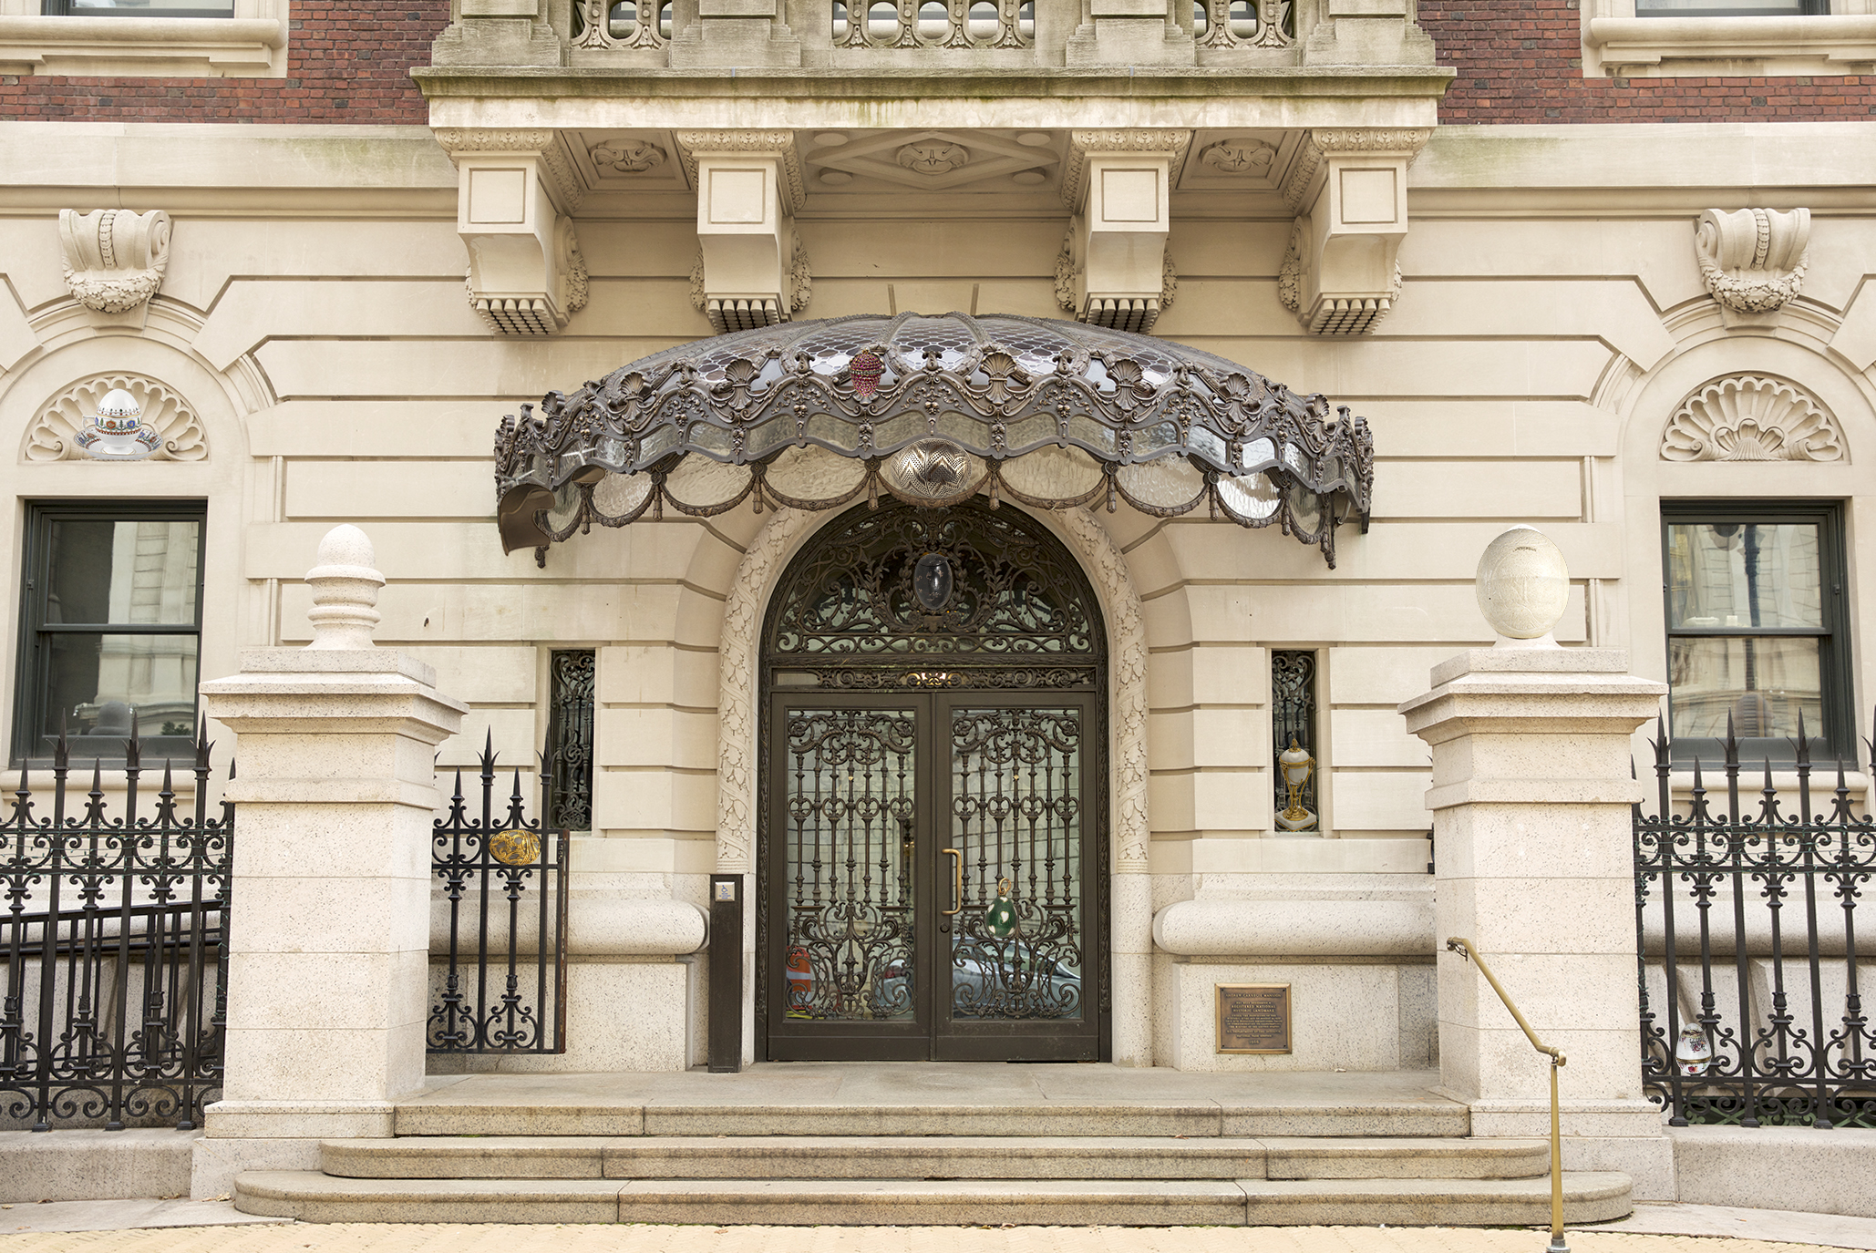
[[0,818],[0,1127],[191,1129],[219,1095],[234,807],[208,803],[208,750],[199,739],[182,767],[193,812],[178,812],[169,760],[143,810],[135,728],[120,816],[114,771],[107,797],[98,760],[71,812],[64,735],[51,812],[21,769]]

